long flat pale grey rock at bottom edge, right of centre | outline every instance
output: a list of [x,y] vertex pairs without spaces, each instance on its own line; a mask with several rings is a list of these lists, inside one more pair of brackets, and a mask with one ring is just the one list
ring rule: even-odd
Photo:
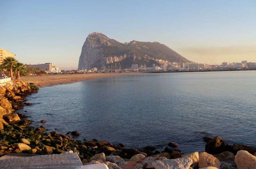
[[193,161],[190,158],[176,158],[166,160],[156,160],[152,162],[155,169],[189,169]]

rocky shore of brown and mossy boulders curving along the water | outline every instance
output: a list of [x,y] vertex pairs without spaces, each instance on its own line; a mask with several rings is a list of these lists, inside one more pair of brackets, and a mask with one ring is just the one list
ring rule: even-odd
[[256,148],[242,144],[228,145],[219,136],[204,137],[205,152],[182,154],[179,144],[170,142],[164,151],[154,146],[141,150],[93,139],[76,140],[79,131],[63,135],[48,132],[43,124],[32,127],[26,114],[17,110],[31,103],[26,96],[37,92],[33,83],[13,81],[0,86],[0,157],[9,153],[60,154],[76,152],[84,165],[104,163],[110,169],[255,169]]

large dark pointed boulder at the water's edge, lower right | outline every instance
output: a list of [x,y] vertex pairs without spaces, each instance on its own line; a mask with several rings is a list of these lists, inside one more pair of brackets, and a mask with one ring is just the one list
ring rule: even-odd
[[223,151],[228,151],[228,144],[225,143],[220,136],[214,137],[205,145],[205,152],[209,154],[220,154]]

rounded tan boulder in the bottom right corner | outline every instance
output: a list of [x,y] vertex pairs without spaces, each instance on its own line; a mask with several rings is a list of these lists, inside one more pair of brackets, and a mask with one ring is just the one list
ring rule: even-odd
[[235,156],[235,163],[238,169],[255,169],[256,157],[248,151],[240,150]]

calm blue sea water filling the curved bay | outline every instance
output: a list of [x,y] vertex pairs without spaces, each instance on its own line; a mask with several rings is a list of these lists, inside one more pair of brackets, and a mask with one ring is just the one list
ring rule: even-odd
[[204,136],[256,146],[256,71],[137,74],[40,88],[28,96],[33,125],[127,147],[179,143],[204,151]]

